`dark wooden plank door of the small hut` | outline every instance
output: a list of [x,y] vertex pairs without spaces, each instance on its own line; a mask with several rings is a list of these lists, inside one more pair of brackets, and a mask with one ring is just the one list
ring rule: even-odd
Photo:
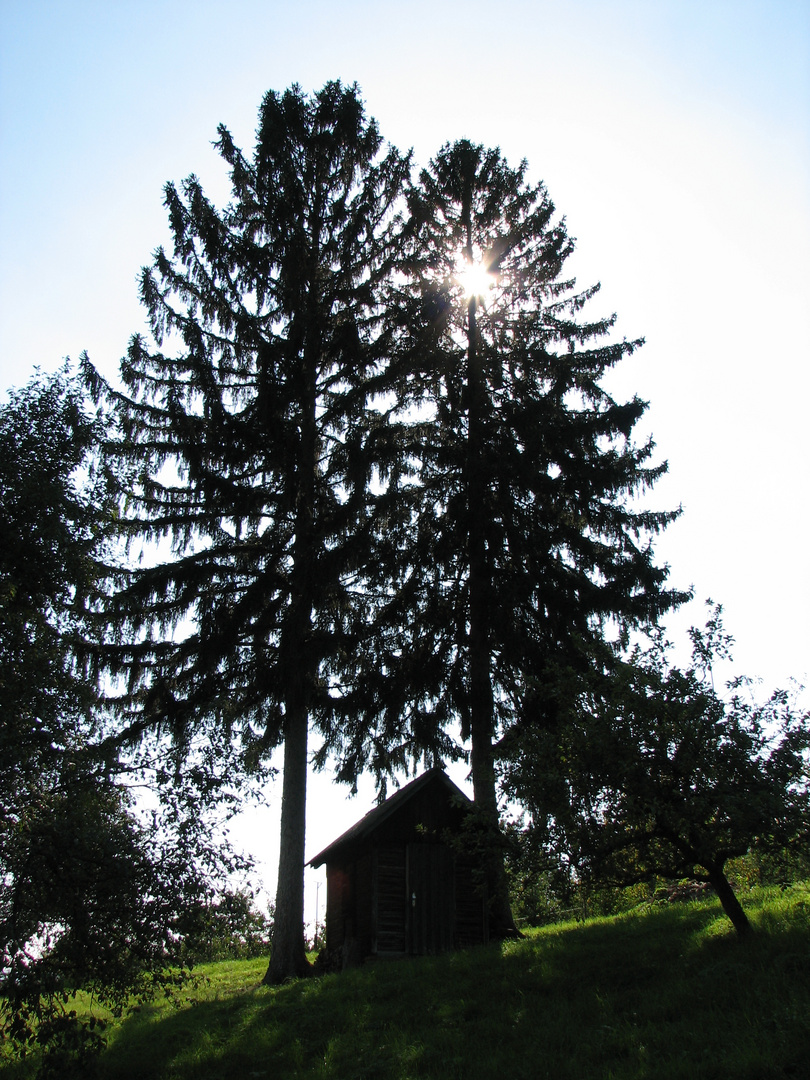
[[411,954],[421,956],[453,948],[453,852],[446,845],[408,845],[408,951]]

